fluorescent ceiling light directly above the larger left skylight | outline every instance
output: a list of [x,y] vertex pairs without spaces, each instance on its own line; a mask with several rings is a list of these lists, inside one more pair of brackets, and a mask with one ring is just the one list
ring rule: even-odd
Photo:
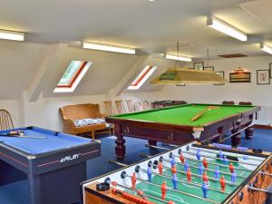
[[91,42],[83,42],[83,48],[92,49],[92,50],[102,50],[115,53],[131,53],[135,54],[135,49],[129,47],[120,47],[112,44],[96,44]]

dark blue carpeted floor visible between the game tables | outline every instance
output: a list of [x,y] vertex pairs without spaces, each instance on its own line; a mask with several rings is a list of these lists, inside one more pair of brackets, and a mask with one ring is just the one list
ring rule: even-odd
[[[92,179],[112,170],[121,168],[115,164],[108,163],[108,160],[115,159],[114,146],[115,138],[101,137],[102,141],[102,156],[93,160],[87,161],[87,177]],[[230,141],[227,141],[229,143]],[[144,146],[146,141],[126,138],[127,156],[123,163],[131,164],[144,158],[139,156],[140,153],[155,155],[161,150],[149,149]],[[256,130],[253,140],[242,140],[243,146],[248,148],[257,148],[264,151],[272,151],[272,131]],[[159,143],[161,146],[162,144]],[[163,146],[170,148],[169,146]],[[28,201],[28,185],[26,180],[18,181],[9,185],[0,187],[0,204],[29,204]]]

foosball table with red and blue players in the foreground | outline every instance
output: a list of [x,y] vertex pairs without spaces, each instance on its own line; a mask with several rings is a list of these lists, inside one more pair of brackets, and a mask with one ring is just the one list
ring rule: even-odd
[[272,154],[194,141],[82,187],[83,204],[271,204]]

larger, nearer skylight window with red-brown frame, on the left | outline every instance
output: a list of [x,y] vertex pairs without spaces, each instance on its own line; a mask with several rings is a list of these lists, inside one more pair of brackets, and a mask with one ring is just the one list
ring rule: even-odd
[[91,65],[92,62],[73,60],[53,92],[73,92]]

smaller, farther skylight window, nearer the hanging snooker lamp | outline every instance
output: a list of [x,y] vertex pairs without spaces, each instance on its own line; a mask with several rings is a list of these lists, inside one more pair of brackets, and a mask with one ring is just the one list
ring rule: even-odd
[[128,90],[137,90],[140,89],[141,85],[145,83],[148,78],[150,78],[151,74],[157,69],[157,66],[146,66],[144,69],[139,73],[136,79],[131,83],[128,87]]

